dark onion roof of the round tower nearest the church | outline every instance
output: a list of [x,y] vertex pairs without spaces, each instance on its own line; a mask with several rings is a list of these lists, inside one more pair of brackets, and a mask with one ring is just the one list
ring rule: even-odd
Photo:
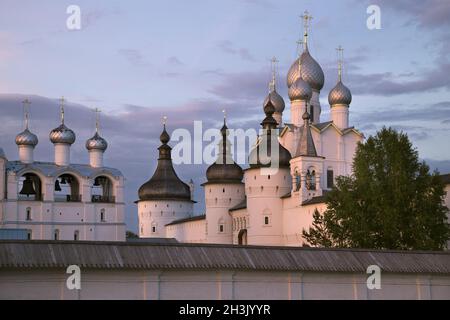
[[[272,134],[274,134],[275,128],[277,127],[277,121],[273,118],[274,112],[275,107],[269,100],[269,102],[264,106],[266,118],[261,122],[264,133],[259,138],[256,147],[253,148],[248,157],[250,168],[270,167],[273,160],[272,151],[278,152],[278,166],[280,168],[289,167],[289,161],[291,160],[290,152],[279,143],[278,137],[275,137],[275,139],[272,138]],[[275,144],[273,145],[272,142]],[[267,146],[267,150],[261,150],[263,143]]]

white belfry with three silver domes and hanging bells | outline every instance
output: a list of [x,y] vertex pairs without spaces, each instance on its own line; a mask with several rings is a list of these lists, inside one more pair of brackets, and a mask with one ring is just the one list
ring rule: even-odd
[[61,123],[49,139],[54,162],[36,161],[39,141],[25,111],[25,128],[16,136],[19,160],[8,160],[0,148],[0,231],[29,240],[125,241],[124,177],[103,164],[108,143],[99,134],[98,117],[86,141],[88,164],[70,161],[76,134],[64,122],[64,99]]

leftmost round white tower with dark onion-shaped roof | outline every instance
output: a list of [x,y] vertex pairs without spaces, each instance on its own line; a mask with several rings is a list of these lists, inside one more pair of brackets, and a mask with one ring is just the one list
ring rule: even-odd
[[168,145],[170,136],[164,128],[159,137],[158,164],[153,176],[138,191],[139,237],[165,237],[165,225],[193,213],[194,201],[188,184],[178,178]]

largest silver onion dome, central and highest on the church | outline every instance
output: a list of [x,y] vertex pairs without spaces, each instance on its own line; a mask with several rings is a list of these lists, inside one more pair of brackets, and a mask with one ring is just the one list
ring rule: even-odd
[[287,85],[288,87],[299,78],[298,74],[298,61],[301,59],[302,63],[302,77],[303,80],[309,83],[312,89],[320,91],[323,88],[325,82],[325,76],[320,65],[314,60],[309,54],[308,49],[306,49],[300,58],[294,61],[289,72],[287,74]]

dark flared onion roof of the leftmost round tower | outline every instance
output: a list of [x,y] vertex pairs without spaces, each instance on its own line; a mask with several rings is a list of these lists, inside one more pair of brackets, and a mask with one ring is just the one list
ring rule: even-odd
[[171,150],[167,144],[170,136],[164,130],[161,133],[162,145],[158,148],[159,158],[153,176],[144,183],[138,191],[139,200],[182,200],[191,201],[191,189],[189,185],[178,178],[172,164]]

